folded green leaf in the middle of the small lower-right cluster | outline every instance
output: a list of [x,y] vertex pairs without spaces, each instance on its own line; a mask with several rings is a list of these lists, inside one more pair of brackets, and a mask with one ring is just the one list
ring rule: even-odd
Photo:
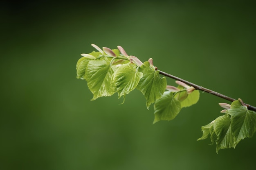
[[[229,115],[225,114],[218,117],[213,124],[214,133],[217,135],[215,140],[216,152],[218,150],[234,147],[234,136],[231,131],[231,118]],[[214,142],[214,141],[212,141]]]

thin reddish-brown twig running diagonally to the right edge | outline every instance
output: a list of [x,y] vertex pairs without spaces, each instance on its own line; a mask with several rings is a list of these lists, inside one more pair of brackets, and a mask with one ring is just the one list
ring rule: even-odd
[[[157,70],[157,68],[156,68],[156,70]],[[203,91],[203,92],[207,92],[207,93],[209,93],[209,94],[213,94],[213,95],[215,95],[215,96],[218,96],[218,97],[220,97],[220,98],[224,98],[225,100],[229,100],[229,101],[231,101],[231,102],[234,102],[234,101],[236,100],[236,99],[231,98],[231,97],[229,97],[229,96],[225,96],[225,95],[220,94],[220,93],[218,93],[218,92],[214,92],[213,90],[210,90],[210,89],[204,88],[204,87],[202,87],[202,86],[196,85],[196,84],[194,84],[194,83],[191,83],[191,82],[189,82],[189,81],[183,80],[182,78],[173,76],[173,75],[168,74],[168,73],[166,73],[166,72],[163,72],[163,71],[160,71],[160,70],[158,70],[158,71],[159,71],[159,74],[162,74],[162,75],[167,76],[167,77],[169,77],[169,78],[173,78],[173,79],[175,79],[175,80],[181,81],[181,82],[183,82],[183,83],[186,83],[187,85],[191,85],[191,86],[193,86],[196,90],[201,90],[201,91]],[[251,105],[248,105],[248,104],[245,104],[245,105],[247,106],[247,108],[248,108],[249,110],[256,111],[256,107],[251,106]]]

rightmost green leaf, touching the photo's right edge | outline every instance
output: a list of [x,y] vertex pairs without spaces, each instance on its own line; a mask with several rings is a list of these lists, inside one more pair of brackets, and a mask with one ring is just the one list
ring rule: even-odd
[[231,129],[234,134],[234,147],[241,139],[252,137],[256,131],[256,112],[247,110],[239,100],[232,102],[227,112],[231,116]]

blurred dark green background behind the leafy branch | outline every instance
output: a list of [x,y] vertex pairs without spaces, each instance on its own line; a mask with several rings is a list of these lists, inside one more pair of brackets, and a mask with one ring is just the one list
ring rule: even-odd
[[117,94],[90,101],[76,79],[91,44],[122,46],[255,106],[253,1],[4,1],[0,14],[1,170],[255,169],[255,136],[218,154],[209,139],[197,141],[227,101],[201,92],[197,105],[153,125],[139,91],[123,105]]

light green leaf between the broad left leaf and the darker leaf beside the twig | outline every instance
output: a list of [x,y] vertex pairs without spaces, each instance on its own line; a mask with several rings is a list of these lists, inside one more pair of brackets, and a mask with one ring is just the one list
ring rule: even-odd
[[134,90],[142,76],[142,72],[136,71],[135,64],[123,64],[119,66],[113,74],[111,84],[114,91],[117,91],[120,98]]

